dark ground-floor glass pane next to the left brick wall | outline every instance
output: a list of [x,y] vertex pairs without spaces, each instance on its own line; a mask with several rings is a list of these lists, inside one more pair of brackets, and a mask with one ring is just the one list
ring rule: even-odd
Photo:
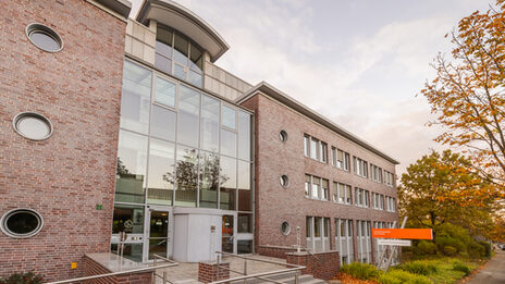
[[115,205],[112,217],[112,234],[144,233],[144,207]]

